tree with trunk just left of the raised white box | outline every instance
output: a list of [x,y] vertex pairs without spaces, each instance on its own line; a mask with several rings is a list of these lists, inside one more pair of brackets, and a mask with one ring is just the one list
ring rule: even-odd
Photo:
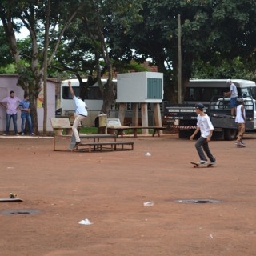
[[[110,113],[116,91],[112,82],[114,58],[109,43],[110,36],[114,34],[109,31],[118,26],[128,28],[130,23],[134,22],[131,18],[138,16],[140,2],[141,0],[91,1],[72,29],[66,30],[66,42],[63,43],[65,50],[58,53],[59,62],[62,62],[63,66],[69,66],[68,69],[77,75],[83,93],[98,82],[103,97],[102,112],[106,114]],[[80,37],[77,37],[77,34],[80,34]],[[71,58],[66,57],[66,52],[72,53]],[[86,74],[87,82],[82,82],[81,73]],[[101,81],[102,74],[108,76],[105,85]],[[84,94],[82,98],[83,96]]]

